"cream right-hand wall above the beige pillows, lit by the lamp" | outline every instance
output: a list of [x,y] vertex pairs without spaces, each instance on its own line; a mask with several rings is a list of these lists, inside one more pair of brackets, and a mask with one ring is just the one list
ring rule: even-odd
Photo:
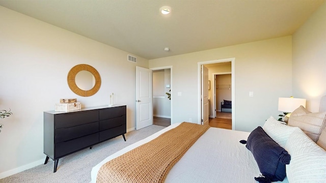
[[307,99],[306,108],[319,110],[326,95],[326,3],[293,34],[293,96]]

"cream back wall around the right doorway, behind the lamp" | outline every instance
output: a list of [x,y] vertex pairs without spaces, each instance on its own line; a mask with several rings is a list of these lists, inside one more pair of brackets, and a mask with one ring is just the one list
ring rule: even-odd
[[292,92],[291,42],[287,36],[149,60],[150,68],[173,66],[171,123],[189,118],[199,122],[197,63],[231,57],[235,57],[235,130],[249,132],[270,115],[277,117],[278,98]]

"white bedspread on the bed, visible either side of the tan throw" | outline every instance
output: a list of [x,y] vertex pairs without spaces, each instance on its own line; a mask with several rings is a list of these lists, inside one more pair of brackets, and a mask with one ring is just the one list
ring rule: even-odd
[[[99,168],[127,151],[138,147],[160,134],[180,125],[173,124],[117,153],[107,157],[95,167],[91,176],[96,182]],[[254,177],[261,173],[257,163],[246,145],[240,140],[247,140],[249,132],[209,128],[186,154],[174,165],[165,182],[257,182]],[[287,178],[283,182],[288,182]]]

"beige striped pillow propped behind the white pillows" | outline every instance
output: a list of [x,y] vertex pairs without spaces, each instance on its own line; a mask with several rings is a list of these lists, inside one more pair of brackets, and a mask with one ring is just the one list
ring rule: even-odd
[[290,115],[288,126],[299,127],[314,142],[317,142],[326,125],[326,112],[310,112],[303,106],[295,109]]

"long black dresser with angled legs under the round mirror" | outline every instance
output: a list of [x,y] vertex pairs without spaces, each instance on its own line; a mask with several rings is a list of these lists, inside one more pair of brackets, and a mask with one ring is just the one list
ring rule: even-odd
[[126,133],[126,105],[86,107],[69,112],[44,112],[44,154],[55,161]]

